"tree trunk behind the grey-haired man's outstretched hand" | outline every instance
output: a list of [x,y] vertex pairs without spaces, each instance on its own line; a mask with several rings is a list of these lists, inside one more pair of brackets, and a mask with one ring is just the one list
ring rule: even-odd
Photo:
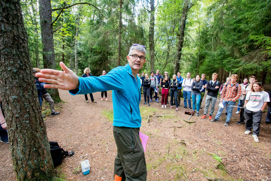
[[[42,37],[43,68],[55,69],[55,51],[52,27],[52,8],[50,0],[39,0],[39,18]],[[60,101],[58,89],[47,89],[55,102]]]

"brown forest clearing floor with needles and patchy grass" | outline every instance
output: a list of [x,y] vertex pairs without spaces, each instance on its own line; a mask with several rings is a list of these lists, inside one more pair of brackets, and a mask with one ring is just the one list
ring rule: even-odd
[[[108,101],[101,101],[101,94],[94,93],[97,104],[86,103],[84,95],[72,96],[63,90],[59,93],[65,101],[56,104],[60,115],[52,117],[45,113],[48,139],[58,141],[65,151],[75,154],[56,167],[58,176],[74,181],[113,180],[117,148],[112,133],[112,92],[107,91]],[[168,109],[170,105],[161,108],[161,103],[147,106],[143,102],[142,97],[140,131],[149,136],[145,153],[148,181],[198,181],[207,177],[238,181],[271,179],[271,125],[265,124],[266,113],[260,125],[260,142],[256,143],[251,134],[244,134],[244,124],[236,124],[239,120],[236,108],[229,126],[225,127],[225,111],[219,122],[198,116],[188,120],[182,109],[183,101],[178,112]],[[214,116],[217,109],[218,102]],[[200,110],[200,116],[203,111]],[[9,144],[0,144],[0,155],[0,180],[16,180]],[[80,162],[86,159],[91,169],[83,175]]]

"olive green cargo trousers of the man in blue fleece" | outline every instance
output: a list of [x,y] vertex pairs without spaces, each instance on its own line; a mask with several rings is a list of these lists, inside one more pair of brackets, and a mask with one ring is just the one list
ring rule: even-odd
[[117,145],[114,181],[145,181],[147,167],[139,128],[113,126],[113,135]]

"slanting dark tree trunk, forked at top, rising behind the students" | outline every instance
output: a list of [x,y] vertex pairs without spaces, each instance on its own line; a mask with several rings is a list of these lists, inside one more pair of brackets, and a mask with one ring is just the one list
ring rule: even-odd
[[176,75],[177,75],[179,68],[180,68],[186,19],[187,19],[188,11],[190,10],[190,8],[193,5],[194,4],[189,3],[188,0],[185,0],[183,8],[182,8],[182,15],[181,15],[181,19],[180,19],[180,28],[179,28],[180,33],[179,33],[179,40],[178,40],[178,45],[177,45],[177,56],[176,56],[175,66],[174,66],[174,74],[176,74]]

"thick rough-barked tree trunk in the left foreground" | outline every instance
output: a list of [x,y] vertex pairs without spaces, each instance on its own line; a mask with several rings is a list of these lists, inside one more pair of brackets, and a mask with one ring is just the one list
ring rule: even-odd
[[37,99],[19,0],[0,0],[0,92],[18,180],[50,180],[55,170]]

